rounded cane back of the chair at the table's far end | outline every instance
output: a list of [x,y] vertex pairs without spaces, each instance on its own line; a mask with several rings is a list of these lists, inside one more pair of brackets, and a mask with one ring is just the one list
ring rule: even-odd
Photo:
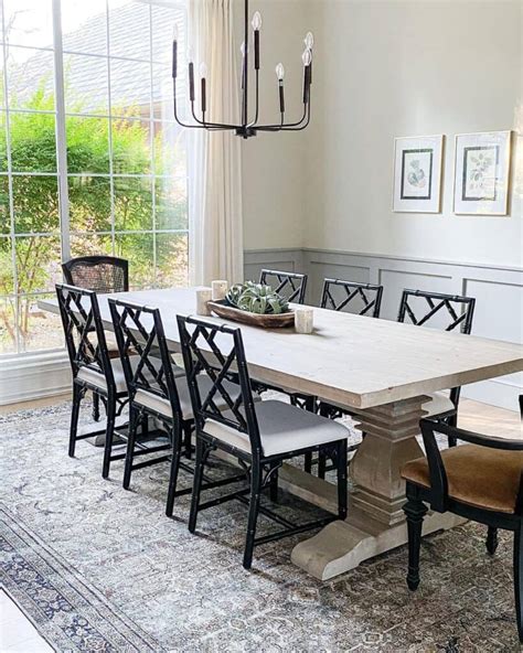
[[129,263],[114,256],[81,256],[62,264],[67,283],[95,292],[127,292]]

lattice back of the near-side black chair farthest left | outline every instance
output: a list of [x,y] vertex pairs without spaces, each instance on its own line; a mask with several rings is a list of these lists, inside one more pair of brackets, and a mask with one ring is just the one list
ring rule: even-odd
[[96,293],[84,288],[56,283],[56,297],[64,329],[73,378],[81,367],[103,374],[114,386],[113,367]]

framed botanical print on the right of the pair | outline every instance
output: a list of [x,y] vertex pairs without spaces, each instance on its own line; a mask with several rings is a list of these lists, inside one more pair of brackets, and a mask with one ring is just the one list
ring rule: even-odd
[[490,131],[456,137],[456,214],[506,215],[511,136],[511,131]]

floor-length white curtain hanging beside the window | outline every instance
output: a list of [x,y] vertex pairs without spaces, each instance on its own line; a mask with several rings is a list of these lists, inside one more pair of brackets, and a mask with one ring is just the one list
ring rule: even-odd
[[[234,0],[189,0],[189,45],[194,55],[196,116],[200,64],[207,65],[206,118],[238,119],[238,44]],[[191,282],[244,280],[239,138],[231,131],[189,130],[189,217]]]

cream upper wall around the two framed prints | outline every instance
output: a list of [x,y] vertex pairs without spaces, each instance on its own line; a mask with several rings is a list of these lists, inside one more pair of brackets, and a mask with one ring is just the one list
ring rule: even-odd
[[[521,266],[511,217],[452,215],[453,135],[523,128],[517,0],[316,0],[305,246]],[[520,107],[520,117],[517,116]],[[442,213],[392,212],[393,139],[448,135]]]

